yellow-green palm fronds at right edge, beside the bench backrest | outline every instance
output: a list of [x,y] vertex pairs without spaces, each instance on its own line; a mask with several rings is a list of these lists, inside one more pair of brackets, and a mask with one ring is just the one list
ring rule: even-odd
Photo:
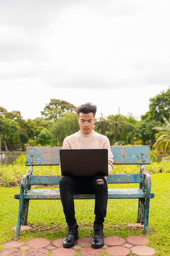
[[162,127],[153,128],[158,131],[155,134],[156,142],[153,144],[153,149],[156,153],[160,153],[160,150],[162,150],[164,154],[167,154],[168,150],[170,150],[170,119],[168,121],[163,117],[163,121],[165,124]]

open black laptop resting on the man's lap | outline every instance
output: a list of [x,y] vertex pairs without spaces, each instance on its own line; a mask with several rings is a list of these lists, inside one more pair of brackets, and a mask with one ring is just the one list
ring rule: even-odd
[[107,176],[107,149],[61,149],[61,175],[63,176]]

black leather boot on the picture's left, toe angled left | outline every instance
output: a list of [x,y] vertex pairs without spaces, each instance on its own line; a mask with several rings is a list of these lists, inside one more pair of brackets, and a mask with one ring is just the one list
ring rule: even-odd
[[73,226],[68,227],[68,234],[63,240],[63,247],[70,248],[73,247],[75,241],[78,239],[78,225],[75,224]]

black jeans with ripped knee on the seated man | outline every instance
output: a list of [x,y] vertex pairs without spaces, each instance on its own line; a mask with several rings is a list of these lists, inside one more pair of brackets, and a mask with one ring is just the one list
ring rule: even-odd
[[[96,180],[104,180],[104,184],[98,184]],[[95,225],[103,225],[107,210],[107,181],[103,176],[96,177],[71,177],[63,176],[59,182],[61,202],[65,220],[68,226],[76,224],[73,194],[95,194]]]

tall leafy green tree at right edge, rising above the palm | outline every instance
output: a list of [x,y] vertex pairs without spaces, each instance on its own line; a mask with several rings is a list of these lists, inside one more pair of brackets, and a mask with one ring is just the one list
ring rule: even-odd
[[163,124],[163,117],[170,118],[170,88],[166,92],[161,92],[155,97],[149,99],[149,111],[141,116],[141,119],[150,119],[153,121],[161,121]]

